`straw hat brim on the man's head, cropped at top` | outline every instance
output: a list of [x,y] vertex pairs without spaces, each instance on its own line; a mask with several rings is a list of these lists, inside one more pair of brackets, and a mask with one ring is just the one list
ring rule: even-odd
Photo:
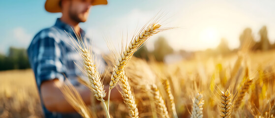
[[[56,13],[61,12],[61,7],[59,5],[60,0],[46,0],[45,9],[48,12]],[[93,0],[92,5],[107,4],[107,0]]]

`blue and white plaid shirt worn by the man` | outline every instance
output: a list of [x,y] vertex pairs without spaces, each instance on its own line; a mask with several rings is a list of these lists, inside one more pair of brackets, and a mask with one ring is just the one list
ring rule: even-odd
[[[54,26],[38,32],[28,48],[29,60],[39,93],[40,85],[44,81],[57,78],[62,82],[66,77],[73,85],[77,85],[77,77],[83,75],[74,63],[82,65],[81,58],[74,48],[68,44],[72,41],[64,30],[71,33],[77,40],[71,26],[57,19]],[[84,39],[86,36],[84,30],[80,29],[80,33]],[[87,42],[90,42],[89,38],[87,38]],[[41,104],[46,118],[68,118],[68,116],[64,117],[64,114],[49,112],[45,108],[42,99]]]

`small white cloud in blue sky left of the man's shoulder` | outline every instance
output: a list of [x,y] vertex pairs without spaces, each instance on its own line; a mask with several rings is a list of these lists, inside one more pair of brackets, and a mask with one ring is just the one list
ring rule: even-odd
[[27,33],[26,29],[17,27],[12,30],[12,35],[14,39],[13,42],[16,44],[14,46],[26,48],[30,44],[32,35]]

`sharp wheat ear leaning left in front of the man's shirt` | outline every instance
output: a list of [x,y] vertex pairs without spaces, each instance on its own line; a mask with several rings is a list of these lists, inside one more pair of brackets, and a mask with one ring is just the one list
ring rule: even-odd
[[97,71],[96,65],[94,64],[94,61],[93,61],[91,46],[90,47],[87,46],[86,40],[85,40],[85,43],[86,43],[85,45],[81,36],[79,36],[77,33],[75,33],[75,35],[78,41],[76,41],[71,34],[68,34],[68,35],[75,46],[74,47],[75,50],[78,51],[79,55],[81,56],[83,66],[86,71],[82,70],[82,68],[78,65],[79,68],[88,76],[89,81],[91,83],[92,92],[94,93],[94,97],[103,103],[107,118],[110,118],[108,109],[105,104],[105,100],[103,99],[106,96],[106,92],[104,90],[104,85],[100,80],[100,75]]

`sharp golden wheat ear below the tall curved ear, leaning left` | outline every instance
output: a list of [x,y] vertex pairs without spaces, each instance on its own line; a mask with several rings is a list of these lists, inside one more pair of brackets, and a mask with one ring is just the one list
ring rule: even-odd
[[124,72],[122,73],[120,87],[122,88],[121,94],[122,94],[124,103],[126,104],[128,110],[129,110],[130,117],[131,118],[139,118],[137,104],[135,102],[134,95],[131,91],[131,87],[129,85],[128,78]]

